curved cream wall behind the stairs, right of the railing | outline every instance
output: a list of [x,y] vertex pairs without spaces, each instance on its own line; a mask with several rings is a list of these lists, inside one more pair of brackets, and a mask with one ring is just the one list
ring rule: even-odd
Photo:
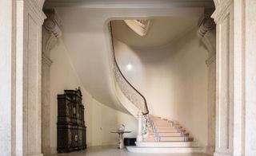
[[136,49],[118,40],[114,46],[122,72],[146,96],[150,114],[178,120],[206,145],[207,53],[196,30],[164,47]]

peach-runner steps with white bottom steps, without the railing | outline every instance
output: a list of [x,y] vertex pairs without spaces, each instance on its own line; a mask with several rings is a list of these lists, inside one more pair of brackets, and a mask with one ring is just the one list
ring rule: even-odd
[[127,146],[135,153],[202,153],[203,148],[177,121],[150,115],[147,135],[136,146]]

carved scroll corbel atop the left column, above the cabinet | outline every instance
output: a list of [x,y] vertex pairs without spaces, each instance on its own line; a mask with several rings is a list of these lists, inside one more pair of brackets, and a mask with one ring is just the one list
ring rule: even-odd
[[46,19],[42,25],[42,54],[43,59],[50,61],[50,49],[56,45],[58,38],[62,36],[59,28],[60,19],[55,10],[44,10]]

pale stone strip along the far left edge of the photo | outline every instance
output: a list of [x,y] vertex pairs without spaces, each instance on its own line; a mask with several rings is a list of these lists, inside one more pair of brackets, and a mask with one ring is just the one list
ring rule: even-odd
[[15,103],[15,15],[14,0],[0,1],[0,150],[1,155],[16,152]]

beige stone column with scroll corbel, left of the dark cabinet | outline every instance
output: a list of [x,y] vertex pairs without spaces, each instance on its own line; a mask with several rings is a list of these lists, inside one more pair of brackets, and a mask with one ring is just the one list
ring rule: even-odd
[[50,142],[50,49],[61,36],[60,20],[55,10],[45,10],[46,20],[42,26],[42,152],[43,154],[56,153],[56,147]]

